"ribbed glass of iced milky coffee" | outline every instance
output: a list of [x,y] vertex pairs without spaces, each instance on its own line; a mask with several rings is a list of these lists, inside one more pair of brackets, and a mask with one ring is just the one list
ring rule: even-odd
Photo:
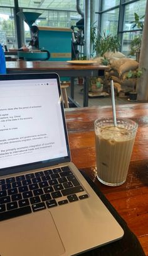
[[105,185],[122,185],[129,169],[137,123],[129,119],[95,120],[97,177]]

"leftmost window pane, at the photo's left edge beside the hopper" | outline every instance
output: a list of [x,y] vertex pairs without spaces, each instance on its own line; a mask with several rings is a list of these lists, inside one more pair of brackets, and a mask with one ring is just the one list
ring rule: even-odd
[[16,48],[16,32],[13,8],[0,8],[0,43],[9,48]]

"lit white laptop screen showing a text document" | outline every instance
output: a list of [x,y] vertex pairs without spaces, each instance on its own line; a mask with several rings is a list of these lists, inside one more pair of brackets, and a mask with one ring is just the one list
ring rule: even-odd
[[7,76],[0,81],[0,172],[67,161],[70,153],[58,75],[1,78]]

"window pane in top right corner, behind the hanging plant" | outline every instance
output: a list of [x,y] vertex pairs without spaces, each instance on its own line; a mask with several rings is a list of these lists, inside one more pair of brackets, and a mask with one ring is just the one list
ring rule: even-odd
[[141,18],[141,21],[144,21],[145,14],[145,0],[140,0],[138,2],[127,4],[125,6],[125,19],[124,19],[124,30],[134,30],[137,29],[137,26],[134,26],[135,16],[134,13],[137,13]]

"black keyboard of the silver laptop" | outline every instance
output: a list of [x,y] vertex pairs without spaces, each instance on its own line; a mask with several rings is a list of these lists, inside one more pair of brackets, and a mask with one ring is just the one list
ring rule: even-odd
[[0,179],[0,221],[85,198],[69,166]]

